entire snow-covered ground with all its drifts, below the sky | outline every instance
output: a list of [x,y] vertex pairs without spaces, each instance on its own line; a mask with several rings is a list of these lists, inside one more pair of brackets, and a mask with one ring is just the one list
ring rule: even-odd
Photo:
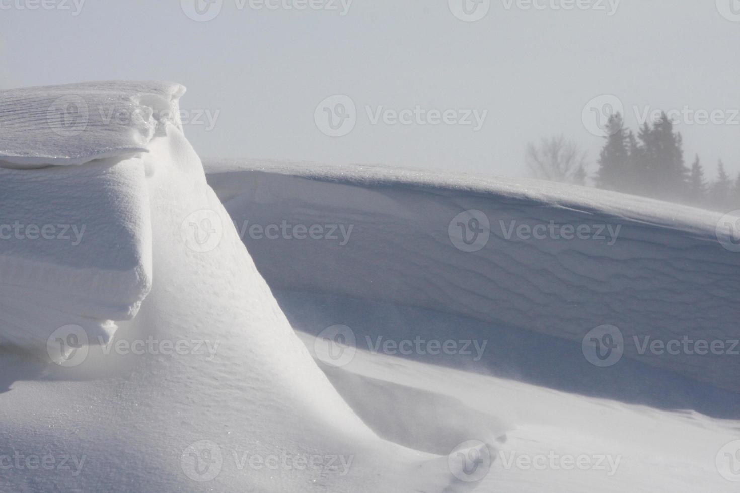
[[732,214],[204,171],[183,93],[0,94],[1,492],[736,491]]

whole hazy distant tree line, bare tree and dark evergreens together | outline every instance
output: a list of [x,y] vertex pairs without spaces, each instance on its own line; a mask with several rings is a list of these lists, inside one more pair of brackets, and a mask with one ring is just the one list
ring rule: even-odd
[[[665,113],[653,125],[645,123],[637,135],[617,113],[606,131],[593,177],[597,187],[723,212],[740,209],[740,176],[733,180],[720,160],[716,178],[707,180],[698,155],[687,166],[682,136]],[[562,136],[529,143],[525,163],[531,174],[545,180],[585,185],[588,179],[585,152]]]

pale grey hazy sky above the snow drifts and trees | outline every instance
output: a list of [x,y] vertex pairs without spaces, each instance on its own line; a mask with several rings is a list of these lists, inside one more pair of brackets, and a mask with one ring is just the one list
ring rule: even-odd
[[[545,135],[595,162],[584,108],[609,94],[632,128],[650,109],[682,112],[687,161],[740,171],[739,0],[195,1],[0,0],[0,87],[178,81],[203,157],[515,175]],[[337,94],[356,111],[346,98],[317,109]],[[354,129],[325,135],[331,112]]]

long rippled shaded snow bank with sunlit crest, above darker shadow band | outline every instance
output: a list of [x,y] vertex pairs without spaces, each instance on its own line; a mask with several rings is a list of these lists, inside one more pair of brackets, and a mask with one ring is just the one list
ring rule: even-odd
[[[208,163],[206,172],[275,288],[431,307],[579,346],[610,324],[625,357],[740,390],[737,356],[641,354],[645,337],[725,341],[727,351],[740,338],[740,256],[718,241],[720,214],[535,180],[376,166],[244,160]],[[582,238],[563,239],[563,225],[585,227]]]

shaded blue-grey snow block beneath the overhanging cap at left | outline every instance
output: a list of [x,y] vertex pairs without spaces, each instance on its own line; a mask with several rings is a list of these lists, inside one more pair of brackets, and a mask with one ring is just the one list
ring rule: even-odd
[[46,356],[60,321],[107,341],[149,293],[151,249],[141,161],[0,169],[0,344]]

